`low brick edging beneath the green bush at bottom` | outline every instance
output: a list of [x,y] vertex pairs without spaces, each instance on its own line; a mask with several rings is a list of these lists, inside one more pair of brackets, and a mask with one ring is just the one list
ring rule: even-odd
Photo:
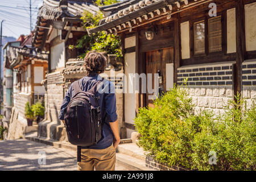
[[146,167],[158,171],[188,171],[188,169],[181,166],[170,166],[166,163],[158,162],[153,156],[146,157]]

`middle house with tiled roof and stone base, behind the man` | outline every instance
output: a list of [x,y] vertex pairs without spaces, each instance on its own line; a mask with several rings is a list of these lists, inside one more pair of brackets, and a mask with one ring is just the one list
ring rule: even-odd
[[[96,15],[99,9],[91,0],[44,0],[43,6],[39,9],[33,43],[38,52],[49,55],[48,73],[42,82],[47,90],[45,96],[47,113],[46,119],[39,123],[39,137],[67,140],[65,127],[58,117],[69,85],[86,75],[82,59],[77,58],[84,52],[69,49],[70,45],[76,45],[77,40],[87,34],[82,28],[80,19],[84,11]],[[112,65],[109,64],[109,67]],[[114,64],[113,68],[122,71],[122,66],[118,64]],[[120,97],[122,105],[122,94]],[[119,110],[122,114],[121,106]]]

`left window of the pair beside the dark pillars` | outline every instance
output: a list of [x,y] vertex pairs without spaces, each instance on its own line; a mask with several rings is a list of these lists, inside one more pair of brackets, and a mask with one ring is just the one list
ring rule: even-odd
[[205,22],[194,23],[194,53],[195,55],[205,53]]

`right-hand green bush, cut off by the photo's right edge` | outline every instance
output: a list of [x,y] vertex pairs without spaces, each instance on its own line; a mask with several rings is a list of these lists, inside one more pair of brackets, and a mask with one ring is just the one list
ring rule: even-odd
[[[193,168],[200,170],[256,169],[256,109],[241,110],[243,100],[230,101],[218,119],[200,123],[201,132],[192,141]],[[209,153],[216,152],[216,165],[209,165]]]

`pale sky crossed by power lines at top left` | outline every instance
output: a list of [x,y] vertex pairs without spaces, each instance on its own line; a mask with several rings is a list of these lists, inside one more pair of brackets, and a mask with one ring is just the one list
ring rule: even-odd
[[[43,0],[31,0],[32,7],[32,30],[36,26],[38,9]],[[30,34],[30,0],[0,0],[0,23],[3,22],[3,36]]]

